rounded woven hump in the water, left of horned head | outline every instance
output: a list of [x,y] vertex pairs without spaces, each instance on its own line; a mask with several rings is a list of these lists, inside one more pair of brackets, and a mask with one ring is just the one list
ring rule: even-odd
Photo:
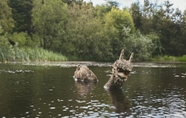
[[73,76],[77,82],[98,82],[96,75],[87,67],[78,65]]

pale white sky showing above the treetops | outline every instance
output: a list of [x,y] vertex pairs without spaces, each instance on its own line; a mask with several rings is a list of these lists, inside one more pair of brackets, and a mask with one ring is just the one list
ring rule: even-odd
[[[93,2],[94,5],[97,4],[104,4],[106,3],[105,0],[84,0],[86,2]],[[130,7],[131,3],[136,2],[137,0],[113,0],[113,1],[117,1],[120,4],[120,8],[123,7]],[[149,0],[152,3],[155,3],[155,1],[158,2],[158,4],[164,3],[165,0]],[[169,0],[170,3],[173,3],[173,8],[179,8],[180,10],[184,11],[186,10],[186,0]],[[144,0],[139,0],[140,4],[143,5]]]

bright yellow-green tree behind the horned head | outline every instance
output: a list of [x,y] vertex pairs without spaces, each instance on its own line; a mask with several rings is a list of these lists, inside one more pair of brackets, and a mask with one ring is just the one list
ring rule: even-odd
[[128,33],[134,33],[135,27],[130,13],[126,10],[112,8],[105,16],[105,35],[110,39],[113,55],[119,54],[124,47],[124,40]]

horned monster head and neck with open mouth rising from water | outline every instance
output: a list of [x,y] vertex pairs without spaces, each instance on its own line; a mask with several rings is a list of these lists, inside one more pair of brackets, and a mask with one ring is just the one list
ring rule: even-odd
[[124,50],[121,51],[120,57],[112,66],[112,75],[108,82],[104,85],[105,89],[121,88],[128,79],[129,73],[132,71],[132,59],[134,53],[130,55],[129,60],[124,59]]

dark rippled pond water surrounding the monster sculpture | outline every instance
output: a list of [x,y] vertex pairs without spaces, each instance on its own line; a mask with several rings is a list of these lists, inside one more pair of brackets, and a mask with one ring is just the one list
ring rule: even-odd
[[186,117],[185,64],[134,63],[122,90],[112,91],[103,88],[110,63],[84,63],[97,84],[74,82],[77,63],[38,64],[0,64],[0,117]]

